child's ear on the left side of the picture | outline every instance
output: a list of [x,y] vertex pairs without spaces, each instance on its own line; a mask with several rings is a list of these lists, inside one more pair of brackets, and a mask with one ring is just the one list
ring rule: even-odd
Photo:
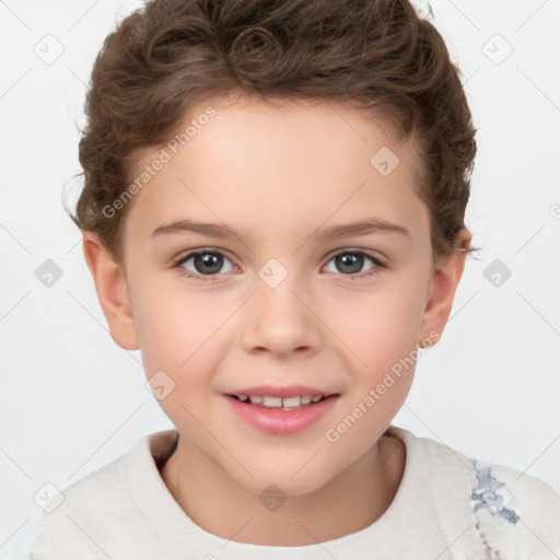
[[138,350],[140,347],[125,273],[92,232],[84,233],[83,254],[113,340],[125,350]]

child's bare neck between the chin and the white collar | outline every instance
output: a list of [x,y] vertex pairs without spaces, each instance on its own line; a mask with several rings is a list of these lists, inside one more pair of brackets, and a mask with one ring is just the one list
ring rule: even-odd
[[208,533],[254,545],[305,546],[377,521],[390,505],[404,468],[402,443],[384,435],[327,485],[288,497],[273,511],[180,435],[161,475],[185,513]]

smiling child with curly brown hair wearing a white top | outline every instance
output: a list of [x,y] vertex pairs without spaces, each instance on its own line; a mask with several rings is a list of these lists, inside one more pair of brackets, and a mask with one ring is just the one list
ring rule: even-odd
[[176,430],[34,560],[558,558],[548,485],[390,423],[475,250],[470,112],[408,1],[150,1],[86,115],[72,218]]

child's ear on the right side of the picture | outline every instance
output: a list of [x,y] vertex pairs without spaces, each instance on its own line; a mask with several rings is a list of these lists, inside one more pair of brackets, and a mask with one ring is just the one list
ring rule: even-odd
[[[468,230],[464,230],[458,247],[466,249],[469,246],[470,240],[470,233]],[[433,339],[433,337],[430,337],[430,332],[435,331],[439,337],[442,336],[443,329],[450,318],[455,291],[463,276],[463,270],[465,269],[466,258],[466,253],[450,255],[444,257],[441,262],[436,264],[433,277],[430,281],[427,305],[419,330],[419,339],[417,341],[420,347],[422,347],[421,341],[423,339]],[[435,342],[438,340],[439,338]]]

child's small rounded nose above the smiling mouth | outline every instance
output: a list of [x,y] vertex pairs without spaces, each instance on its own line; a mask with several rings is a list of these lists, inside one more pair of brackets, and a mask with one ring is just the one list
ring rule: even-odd
[[256,293],[247,303],[243,331],[247,352],[311,355],[320,349],[320,314],[306,301],[291,276],[276,288],[257,282]]

